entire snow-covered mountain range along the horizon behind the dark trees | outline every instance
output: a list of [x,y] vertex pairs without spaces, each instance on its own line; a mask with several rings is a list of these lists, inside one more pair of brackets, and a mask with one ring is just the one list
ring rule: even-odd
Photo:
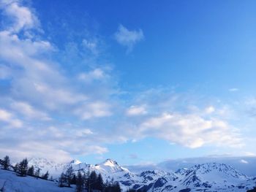
[[102,174],[103,180],[115,180],[125,191],[128,188],[141,191],[246,191],[256,185],[256,178],[241,174],[232,166],[219,163],[196,164],[189,169],[178,169],[176,172],[146,170],[130,172],[116,161],[107,159],[100,164],[91,165],[78,160],[67,164],[56,164],[44,158],[32,158],[29,165],[50,172],[57,178],[69,166],[78,172],[95,171]]

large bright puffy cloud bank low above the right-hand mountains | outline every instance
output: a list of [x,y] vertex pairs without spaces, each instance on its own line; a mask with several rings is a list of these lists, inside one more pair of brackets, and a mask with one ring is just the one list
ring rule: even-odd
[[241,138],[225,121],[195,114],[170,114],[148,118],[138,128],[140,137],[159,137],[186,147],[228,145],[241,147]]

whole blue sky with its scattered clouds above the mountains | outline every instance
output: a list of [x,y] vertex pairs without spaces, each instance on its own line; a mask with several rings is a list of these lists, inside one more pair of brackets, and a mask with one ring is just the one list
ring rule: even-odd
[[0,1],[0,156],[256,155],[256,1]]

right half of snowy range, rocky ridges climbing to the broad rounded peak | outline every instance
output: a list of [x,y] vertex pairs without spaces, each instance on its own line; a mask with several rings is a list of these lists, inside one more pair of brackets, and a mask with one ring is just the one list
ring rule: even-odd
[[[134,185],[146,191],[246,191],[255,186],[255,178],[247,177],[226,164],[197,164],[175,173],[157,174],[151,183]],[[147,176],[146,176],[147,177]],[[140,185],[140,186],[139,186]]]

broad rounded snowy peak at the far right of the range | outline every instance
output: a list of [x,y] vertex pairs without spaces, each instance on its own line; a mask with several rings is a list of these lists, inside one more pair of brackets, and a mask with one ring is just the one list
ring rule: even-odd
[[[183,178],[182,178],[183,177]],[[241,183],[253,183],[251,177],[247,177],[226,164],[198,164],[181,173],[181,183],[188,188],[201,188],[211,191],[244,191],[246,185]]]

